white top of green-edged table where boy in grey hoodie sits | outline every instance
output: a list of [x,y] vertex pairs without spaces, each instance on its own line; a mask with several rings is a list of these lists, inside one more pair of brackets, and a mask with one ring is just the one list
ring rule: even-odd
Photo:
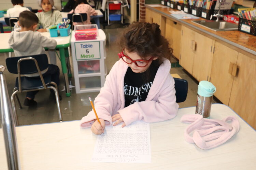
[[[2,49],[10,49],[10,46],[8,44],[9,38],[10,38],[10,34],[11,33],[4,33],[4,34],[0,34],[0,50]],[[70,43],[70,36],[67,37],[51,37],[49,32],[43,32],[41,33],[43,36],[46,36],[48,38],[53,38],[57,41],[57,46],[58,45],[65,45]]]

